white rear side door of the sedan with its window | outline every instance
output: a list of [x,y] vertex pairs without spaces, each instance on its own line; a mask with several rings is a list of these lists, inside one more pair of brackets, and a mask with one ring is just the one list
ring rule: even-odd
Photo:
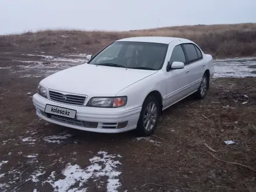
[[202,74],[204,73],[204,62],[202,59],[202,53],[197,45],[193,43],[182,44],[186,55],[186,73],[187,80],[190,83],[189,93],[197,90],[200,86]]

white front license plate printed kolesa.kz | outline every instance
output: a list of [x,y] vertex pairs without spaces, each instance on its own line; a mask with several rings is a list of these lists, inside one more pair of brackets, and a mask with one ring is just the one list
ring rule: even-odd
[[45,106],[44,112],[50,113],[53,115],[63,116],[66,118],[72,118],[72,119],[76,117],[76,110],[62,108],[59,106],[49,105],[49,104]]

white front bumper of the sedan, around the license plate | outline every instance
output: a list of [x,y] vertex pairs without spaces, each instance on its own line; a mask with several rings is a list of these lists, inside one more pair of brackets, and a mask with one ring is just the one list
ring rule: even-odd
[[[93,108],[88,106],[74,106],[51,101],[39,94],[33,95],[33,104],[37,115],[48,122],[61,126],[93,131],[98,133],[121,133],[136,129],[141,107],[134,109],[125,108]],[[76,110],[76,119],[64,118],[61,116],[51,115],[44,112],[45,105],[55,105],[62,108]],[[98,123],[97,127],[86,126],[86,122]],[[122,122],[127,122],[125,127],[119,128]]]

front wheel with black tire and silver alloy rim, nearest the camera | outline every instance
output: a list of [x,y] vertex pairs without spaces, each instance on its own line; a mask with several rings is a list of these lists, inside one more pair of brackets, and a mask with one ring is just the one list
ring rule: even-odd
[[[150,113],[150,116],[148,116],[148,112],[150,112],[149,109],[150,108],[152,109],[152,107],[155,108],[155,110],[154,112]],[[148,120],[146,119],[146,115],[148,116],[147,117]],[[161,115],[160,105],[159,105],[159,102],[157,101],[157,98],[155,98],[154,95],[147,97],[143,102],[141,112],[140,112],[140,118],[138,119],[138,123],[137,123],[136,130],[137,130],[138,136],[140,137],[151,136],[158,126],[160,115]],[[155,118],[153,118],[154,116]],[[144,123],[144,121],[145,122],[147,121],[147,123],[150,123],[150,124],[148,125],[147,123]]]

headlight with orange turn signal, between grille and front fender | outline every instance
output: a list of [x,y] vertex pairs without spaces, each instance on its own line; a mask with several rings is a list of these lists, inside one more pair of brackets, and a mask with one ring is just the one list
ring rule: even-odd
[[125,106],[127,97],[93,97],[88,101],[86,106],[102,107],[102,108],[118,108]]

